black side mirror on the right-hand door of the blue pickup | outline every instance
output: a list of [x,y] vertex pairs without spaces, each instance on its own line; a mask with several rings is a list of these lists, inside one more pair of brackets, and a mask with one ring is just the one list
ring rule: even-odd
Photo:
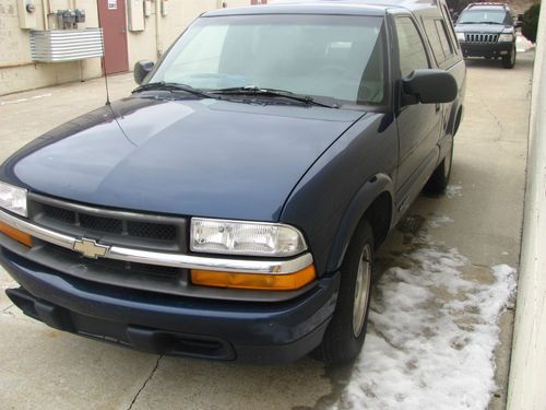
[[404,105],[450,103],[459,92],[454,77],[443,70],[415,70],[402,79],[402,90]]

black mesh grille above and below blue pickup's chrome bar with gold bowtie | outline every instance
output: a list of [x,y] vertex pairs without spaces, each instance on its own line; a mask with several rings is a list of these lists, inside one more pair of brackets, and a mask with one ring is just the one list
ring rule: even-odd
[[[28,218],[40,226],[73,236],[159,253],[186,251],[186,219],[126,212],[28,195]],[[177,293],[187,270],[176,267],[86,258],[79,251],[36,239],[34,251],[43,263],[61,272],[131,289]]]

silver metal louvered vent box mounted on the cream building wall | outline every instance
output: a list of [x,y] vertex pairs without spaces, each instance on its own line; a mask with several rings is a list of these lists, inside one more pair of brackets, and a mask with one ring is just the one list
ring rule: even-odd
[[103,56],[102,28],[31,31],[33,61],[74,61]]

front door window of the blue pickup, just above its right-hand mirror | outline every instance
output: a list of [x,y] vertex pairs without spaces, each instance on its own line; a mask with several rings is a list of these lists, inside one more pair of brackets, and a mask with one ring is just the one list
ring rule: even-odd
[[396,17],[395,25],[401,75],[406,77],[414,70],[430,68],[425,45],[412,19]]

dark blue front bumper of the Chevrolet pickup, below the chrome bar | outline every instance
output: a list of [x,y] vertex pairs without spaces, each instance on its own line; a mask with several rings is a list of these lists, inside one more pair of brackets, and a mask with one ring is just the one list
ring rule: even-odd
[[0,263],[22,288],[7,294],[60,330],[141,351],[239,360],[295,361],[316,348],[333,314],[340,273],[275,303],[163,295],[63,274],[0,247]]

